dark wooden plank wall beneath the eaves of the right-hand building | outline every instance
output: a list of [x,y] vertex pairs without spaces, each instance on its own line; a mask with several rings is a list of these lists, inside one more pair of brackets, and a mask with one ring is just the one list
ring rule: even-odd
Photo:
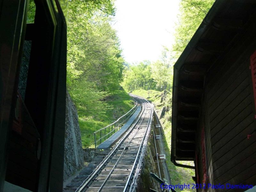
[[[226,50],[214,69],[208,71],[211,75],[207,79],[204,116],[206,130],[208,126],[210,130],[206,131],[206,138],[211,138],[206,147],[208,162],[212,161],[214,184],[256,185],[256,54],[253,53],[256,50],[253,33],[256,28],[249,23],[233,41],[232,48]],[[249,139],[248,135],[251,135]]]

